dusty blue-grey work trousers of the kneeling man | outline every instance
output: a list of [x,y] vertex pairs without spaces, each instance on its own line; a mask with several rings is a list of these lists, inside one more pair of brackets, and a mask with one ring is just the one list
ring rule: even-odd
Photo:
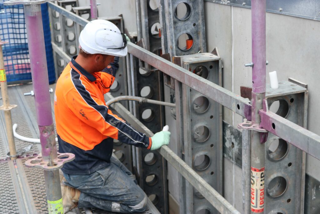
[[136,184],[134,175],[116,158],[89,175],[64,174],[70,186],[81,191],[79,208],[99,208],[120,213],[146,210],[147,195]]

